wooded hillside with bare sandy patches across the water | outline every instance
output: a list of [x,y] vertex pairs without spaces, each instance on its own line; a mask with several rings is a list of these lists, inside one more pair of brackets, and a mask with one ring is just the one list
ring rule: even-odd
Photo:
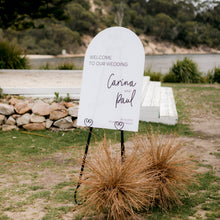
[[[9,7],[5,1],[0,10],[0,40],[14,41],[27,54],[57,55],[62,49],[68,54],[82,54],[99,31],[121,25],[140,37],[147,54],[216,53],[220,50],[219,1],[50,1],[53,5],[50,13],[43,0],[39,0],[42,5],[35,14],[14,7],[15,17],[11,18],[11,23],[7,20],[4,24],[7,12],[4,7]],[[58,7],[57,2],[61,2],[62,7]],[[58,12],[62,16],[57,17]]]

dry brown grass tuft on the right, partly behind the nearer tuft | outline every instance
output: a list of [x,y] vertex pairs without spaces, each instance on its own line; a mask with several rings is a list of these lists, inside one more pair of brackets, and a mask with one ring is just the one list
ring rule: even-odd
[[136,138],[136,145],[145,158],[145,172],[154,175],[155,205],[163,210],[181,205],[181,198],[187,194],[192,183],[192,162],[181,150],[181,143],[175,137],[165,137],[158,133],[147,133]]

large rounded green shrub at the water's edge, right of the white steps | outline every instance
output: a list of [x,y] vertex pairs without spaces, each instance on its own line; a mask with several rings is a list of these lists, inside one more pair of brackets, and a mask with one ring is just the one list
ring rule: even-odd
[[202,78],[197,64],[187,57],[182,61],[178,60],[169,73],[175,75],[176,82],[182,83],[199,83]]

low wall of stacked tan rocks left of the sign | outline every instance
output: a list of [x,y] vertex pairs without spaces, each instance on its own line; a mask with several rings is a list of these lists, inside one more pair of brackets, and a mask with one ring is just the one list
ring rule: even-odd
[[0,101],[0,129],[3,131],[74,130],[78,104],[51,100],[16,99]]

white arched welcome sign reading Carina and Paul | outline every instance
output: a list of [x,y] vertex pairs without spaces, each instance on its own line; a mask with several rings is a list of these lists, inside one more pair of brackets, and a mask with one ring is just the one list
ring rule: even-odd
[[137,131],[144,60],[143,45],[129,29],[96,35],[84,59],[77,124]]

